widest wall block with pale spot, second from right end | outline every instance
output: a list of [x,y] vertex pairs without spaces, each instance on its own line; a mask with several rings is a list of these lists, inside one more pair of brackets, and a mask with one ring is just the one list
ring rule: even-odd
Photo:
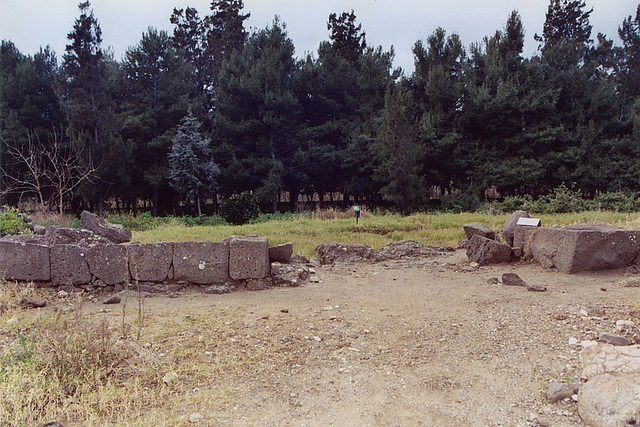
[[182,242],[173,248],[174,279],[196,284],[229,280],[227,242]]

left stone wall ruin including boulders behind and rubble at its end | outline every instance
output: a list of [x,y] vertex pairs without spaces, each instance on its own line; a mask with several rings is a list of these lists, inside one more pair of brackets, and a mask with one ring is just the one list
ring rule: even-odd
[[[89,212],[82,226],[89,229],[51,228],[45,235],[6,236],[0,239],[0,278],[36,282],[43,286],[121,288],[127,283],[145,285],[180,283],[228,285],[257,290],[286,286],[290,278],[274,282],[271,262],[287,263],[293,245],[269,248],[259,237],[230,237],[221,242],[140,244],[129,242],[131,233],[108,224]],[[116,243],[117,242],[117,243]],[[273,259],[270,258],[273,254]],[[296,266],[298,280],[308,277]],[[282,270],[278,267],[278,271]],[[291,275],[291,271],[287,271]]]

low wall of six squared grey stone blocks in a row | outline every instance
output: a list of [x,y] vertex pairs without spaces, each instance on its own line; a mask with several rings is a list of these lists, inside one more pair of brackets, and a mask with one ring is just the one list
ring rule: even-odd
[[269,243],[258,237],[154,244],[46,243],[45,236],[41,243],[0,240],[0,279],[75,287],[134,282],[246,286],[270,275]]

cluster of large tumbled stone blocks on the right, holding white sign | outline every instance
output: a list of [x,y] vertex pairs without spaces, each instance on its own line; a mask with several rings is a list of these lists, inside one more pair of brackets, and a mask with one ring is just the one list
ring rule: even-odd
[[505,243],[491,239],[488,228],[481,224],[465,225],[469,261],[487,265],[533,259],[565,274],[623,268],[640,261],[640,231],[598,222],[540,228],[521,225],[527,222],[522,218],[529,214],[517,211],[506,221]]

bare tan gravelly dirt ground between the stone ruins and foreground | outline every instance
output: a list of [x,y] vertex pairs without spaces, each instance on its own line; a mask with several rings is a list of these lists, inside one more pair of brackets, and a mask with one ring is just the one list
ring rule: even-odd
[[[281,363],[230,376],[242,398],[203,408],[200,425],[583,425],[575,402],[544,391],[579,377],[570,338],[615,332],[640,306],[637,288],[617,286],[624,271],[473,269],[464,251],[315,270],[319,283],[298,288],[145,300],[155,315],[231,313],[225,339],[286,349]],[[488,284],[506,272],[548,291]],[[604,315],[580,313],[594,307]]]

